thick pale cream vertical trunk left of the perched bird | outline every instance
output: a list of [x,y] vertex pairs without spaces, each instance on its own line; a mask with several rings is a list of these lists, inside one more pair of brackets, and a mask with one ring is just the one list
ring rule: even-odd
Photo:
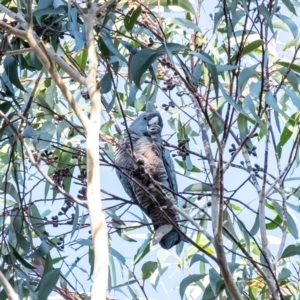
[[[92,5],[93,6],[93,5]],[[88,8],[83,15],[86,29],[87,50],[89,57],[89,73],[86,86],[91,99],[91,113],[87,129],[87,200],[91,219],[93,246],[94,246],[94,283],[91,299],[106,299],[108,284],[108,236],[105,218],[102,212],[100,168],[99,168],[99,134],[101,95],[97,86],[96,76],[98,59],[95,51],[93,30],[94,9]]]

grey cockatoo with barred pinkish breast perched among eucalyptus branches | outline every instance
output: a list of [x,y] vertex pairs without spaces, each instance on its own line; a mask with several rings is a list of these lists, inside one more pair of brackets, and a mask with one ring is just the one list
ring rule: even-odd
[[[164,188],[167,187],[177,192],[177,181],[170,152],[161,143],[162,127],[160,113],[154,109],[152,103],[147,103],[146,112],[129,126],[134,156],[131,155],[128,133],[125,132],[115,153],[115,163],[129,177],[139,182],[156,200],[153,201],[137,183],[117,170],[126,193],[152,220],[154,229],[169,227],[166,230],[167,233],[161,234],[163,237],[159,243],[162,248],[170,249],[180,243],[182,237],[173,227],[164,226],[169,224],[169,221],[166,220],[162,210],[176,224],[179,217],[172,209],[174,205],[177,205],[176,197]],[[152,179],[149,179],[147,175],[150,175]],[[153,184],[153,181],[158,184]]]

